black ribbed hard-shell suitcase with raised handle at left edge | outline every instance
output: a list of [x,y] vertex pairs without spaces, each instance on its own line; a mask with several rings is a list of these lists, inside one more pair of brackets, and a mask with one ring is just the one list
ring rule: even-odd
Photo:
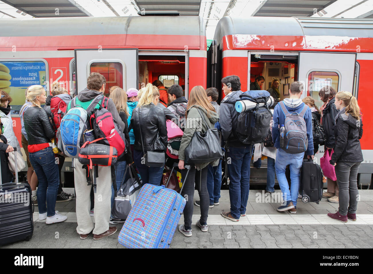
[[25,182],[18,183],[17,157],[15,166],[15,183],[1,185],[0,176],[0,246],[28,241],[34,232],[31,187]]

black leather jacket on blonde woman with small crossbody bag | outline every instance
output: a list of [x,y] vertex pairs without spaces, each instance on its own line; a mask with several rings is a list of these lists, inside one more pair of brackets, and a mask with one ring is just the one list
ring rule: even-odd
[[145,151],[164,151],[167,148],[166,116],[161,107],[153,103],[136,107],[132,112],[131,125],[136,150],[142,151],[141,136]]

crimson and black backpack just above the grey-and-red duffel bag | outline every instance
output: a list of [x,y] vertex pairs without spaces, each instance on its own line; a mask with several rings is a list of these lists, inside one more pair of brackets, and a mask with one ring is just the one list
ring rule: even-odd
[[106,109],[108,100],[110,99],[104,97],[100,108],[94,109],[90,117],[90,126],[96,139],[103,138],[98,143],[115,147],[119,158],[126,152],[125,135],[113,115]]

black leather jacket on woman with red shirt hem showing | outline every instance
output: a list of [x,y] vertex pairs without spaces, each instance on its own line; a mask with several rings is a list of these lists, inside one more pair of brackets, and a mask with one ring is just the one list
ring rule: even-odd
[[54,130],[43,108],[29,107],[23,114],[23,122],[29,145],[49,143],[54,138]]

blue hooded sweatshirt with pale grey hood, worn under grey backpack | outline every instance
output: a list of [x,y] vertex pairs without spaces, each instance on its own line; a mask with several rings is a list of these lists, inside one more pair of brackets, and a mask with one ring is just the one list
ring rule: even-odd
[[[307,107],[307,111],[304,113],[304,121],[307,128],[307,139],[308,139],[308,148],[306,155],[313,155],[313,133],[312,133],[312,114],[311,109],[305,105],[302,99],[290,99],[285,98],[283,100],[285,103],[286,109],[289,113],[297,112],[300,113],[304,107]],[[272,126],[272,139],[275,143],[276,148],[280,148],[280,129],[279,125],[285,123],[285,114],[283,113],[280,104],[277,104],[273,111],[273,126]]]

